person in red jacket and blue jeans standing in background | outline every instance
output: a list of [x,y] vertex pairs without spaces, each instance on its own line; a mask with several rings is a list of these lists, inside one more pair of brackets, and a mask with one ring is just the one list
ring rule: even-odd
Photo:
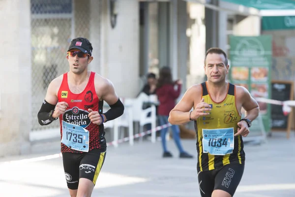
[[[181,91],[180,80],[174,82],[172,80],[171,69],[168,66],[164,66],[160,69],[159,79],[157,83],[156,95],[158,96],[158,100],[160,102],[158,106],[158,118],[160,125],[168,124],[168,117],[170,111],[176,105],[176,99],[180,95]],[[177,90],[174,89],[174,86],[177,85]],[[186,153],[181,145],[180,137],[179,137],[179,127],[177,125],[171,126],[173,131],[173,138],[177,145],[177,148],[180,152],[180,158],[193,158],[192,155]],[[162,146],[163,146],[163,157],[173,157],[172,154],[167,150],[166,146],[166,133],[168,128],[161,130],[161,138],[162,138]]]

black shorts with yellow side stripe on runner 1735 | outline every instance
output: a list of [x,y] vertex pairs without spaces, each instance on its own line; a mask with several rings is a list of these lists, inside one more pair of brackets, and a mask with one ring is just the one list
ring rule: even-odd
[[77,190],[80,178],[87,178],[95,185],[106,152],[93,149],[88,153],[62,153],[63,169],[67,186]]

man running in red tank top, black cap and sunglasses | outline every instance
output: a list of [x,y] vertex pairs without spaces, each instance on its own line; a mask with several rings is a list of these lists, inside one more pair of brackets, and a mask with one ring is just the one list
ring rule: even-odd
[[[69,72],[55,78],[38,113],[40,125],[59,118],[61,153],[71,197],[90,197],[106,155],[103,123],[123,114],[111,81],[88,71],[92,45],[78,37],[67,52]],[[103,101],[110,110],[102,112]]]

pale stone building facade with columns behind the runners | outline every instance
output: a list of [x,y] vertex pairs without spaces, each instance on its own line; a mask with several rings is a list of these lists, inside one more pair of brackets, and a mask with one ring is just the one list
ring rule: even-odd
[[[204,80],[206,50],[227,37],[259,35],[258,10],[218,0],[2,0],[0,156],[30,152],[33,140],[59,136],[37,112],[52,79],[68,71],[71,39],[89,38],[89,69],[134,98],[145,75],[170,66],[185,89]],[[252,28],[248,28],[251,26]]]

